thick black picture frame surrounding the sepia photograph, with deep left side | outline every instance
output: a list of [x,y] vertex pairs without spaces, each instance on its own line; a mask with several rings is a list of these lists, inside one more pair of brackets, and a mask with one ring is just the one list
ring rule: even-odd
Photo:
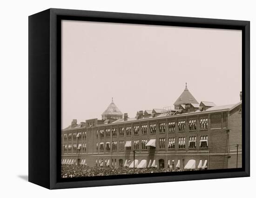
[[[48,189],[127,185],[249,176],[250,162],[250,23],[67,9],[47,9],[29,16],[29,175],[28,180]],[[89,178],[61,174],[61,20],[88,20],[162,26],[242,30],[243,159],[242,168],[203,172],[155,173]]]

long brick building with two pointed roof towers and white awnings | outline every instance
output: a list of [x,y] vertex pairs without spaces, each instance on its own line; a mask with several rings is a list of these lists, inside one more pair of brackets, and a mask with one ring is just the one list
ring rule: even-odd
[[112,99],[101,116],[80,124],[74,119],[62,130],[61,164],[188,170],[242,167],[242,92],[237,104],[216,106],[198,103],[186,85],[173,108],[138,111],[129,118]]

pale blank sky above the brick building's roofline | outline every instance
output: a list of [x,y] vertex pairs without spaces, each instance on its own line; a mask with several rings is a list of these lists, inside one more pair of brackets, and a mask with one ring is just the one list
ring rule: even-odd
[[236,104],[242,91],[242,31],[62,21],[62,128],[101,119],[114,98],[122,113],[173,106],[192,95]]

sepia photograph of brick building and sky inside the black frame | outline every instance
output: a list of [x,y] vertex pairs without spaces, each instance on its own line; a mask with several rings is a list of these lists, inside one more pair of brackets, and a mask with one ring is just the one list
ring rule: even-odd
[[61,178],[242,168],[242,30],[61,20]]

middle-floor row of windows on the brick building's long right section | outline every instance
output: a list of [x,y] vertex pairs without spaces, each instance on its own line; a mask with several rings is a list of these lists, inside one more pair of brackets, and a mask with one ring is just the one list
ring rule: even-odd
[[[128,140],[127,142],[130,142]],[[146,150],[147,149],[147,139],[141,140],[141,149]],[[196,148],[196,136],[190,136],[189,137],[189,148]],[[159,149],[165,149],[166,141],[165,138],[159,139]],[[107,151],[110,151],[110,142],[105,143],[105,147]],[[125,146],[127,150],[131,150],[131,145]],[[201,136],[200,139],[200,148],[208,148],[208,136]],[[184,149],[186,148],[186,138],[185,137],[179,137],[178,139],[178,148]],[[139,149],[139,140],[134,140],[134,149]],[[168,138],[168,149],[175,149],[175,138]],[[96,143],[96,150],[98,151],[98,143]],[[112,142],[112,150],[117,150],[117,141]],[[119,141],[119,150],[124,150],[124,141]],[[100,142],[100,151],[104,151],[104,142]]]

